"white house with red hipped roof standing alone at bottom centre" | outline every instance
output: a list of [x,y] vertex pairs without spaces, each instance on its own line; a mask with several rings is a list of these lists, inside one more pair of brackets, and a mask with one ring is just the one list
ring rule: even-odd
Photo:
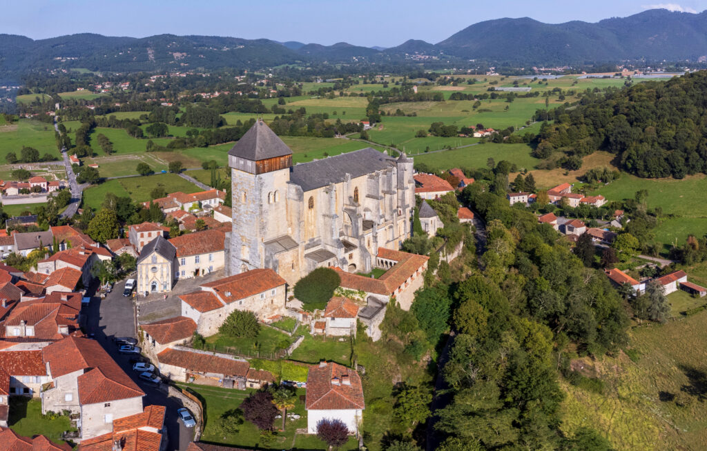
[[356,371],[326,361],[310,366],[305,396],[308,433],[316,434],[317,423],[322,420],[339,420],[350,434],[358,432],[366,404],[361,377]]

